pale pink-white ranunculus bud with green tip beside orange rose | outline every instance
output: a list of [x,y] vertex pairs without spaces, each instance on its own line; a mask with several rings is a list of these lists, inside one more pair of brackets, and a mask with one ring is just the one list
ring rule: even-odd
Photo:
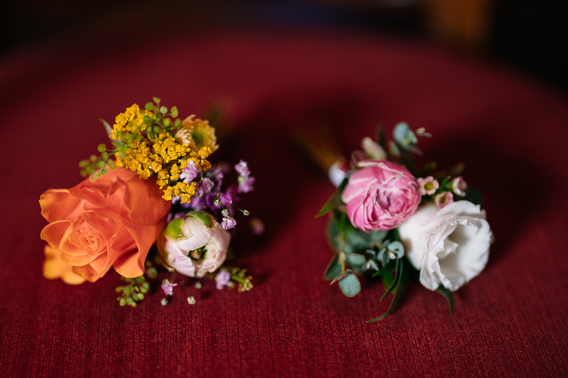
[[210,214],[195,212],[172,220],[158,249],[162,260],[179,273],[203,277],[223,264],[230,242],[231,234]]

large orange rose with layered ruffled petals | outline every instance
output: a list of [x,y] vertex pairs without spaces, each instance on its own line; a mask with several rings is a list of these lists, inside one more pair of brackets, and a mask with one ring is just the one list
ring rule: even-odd
[[[87,281],[97,281],[111,266],[124,277],[139,277],[171,206],[161,196],[156,180],[141,180],[125,168],[70,189],[49,189],[39,200],[49,222],[41,239]],[[63,278],[68,271],[59,262],[44,265],[47,278]]]

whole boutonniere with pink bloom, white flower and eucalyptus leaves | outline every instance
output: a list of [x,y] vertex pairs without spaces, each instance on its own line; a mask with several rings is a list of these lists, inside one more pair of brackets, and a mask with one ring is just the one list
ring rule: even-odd
[[389,310],[369,322],[394,311],[411,273],[448,300],[452,315],[452,292],[487,263],[492,232],[479,195],[459,176],[463,165],[450,172],[436,171],[435,162],[416,169],[417,137],[431,135],[400,122],[388,145],[382,128],[376,140],[363,138],[349,163],[339,159],[329,167],[338,188],[316,215],[331,214],[328,235],[336,250],[324,278],[352,297],[361,290],[357,275],[381,277],[381,299],[394,295]]

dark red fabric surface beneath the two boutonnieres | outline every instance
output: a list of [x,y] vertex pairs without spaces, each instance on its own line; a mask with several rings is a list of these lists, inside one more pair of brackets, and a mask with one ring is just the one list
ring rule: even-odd
[[[150,56],[124,43],[38,50],[0,63],[2,376],[371,377],[566,376],[568,223],[566,99],[485,62],[403,41],[344,36],[183,36]],[[70,188],[77,162],[105,142],[101,124],[152,96],[181,116],[223,96],[232,138],[219,157],[256,176],[237,218],[237,266],[250,292],[190,288],[160,305],[154,290],[121,308],[110,271],[69,286],[42,277],[38,199]],[[291,148],[290,131],[327,124],[344,152],[407,121],[441,167],[463,161],[485,194],[495,244],[456,312],[411,283],[386,320],[380,282],[346,298],[323,281],[332,251],[314,214],[332,192]]]

